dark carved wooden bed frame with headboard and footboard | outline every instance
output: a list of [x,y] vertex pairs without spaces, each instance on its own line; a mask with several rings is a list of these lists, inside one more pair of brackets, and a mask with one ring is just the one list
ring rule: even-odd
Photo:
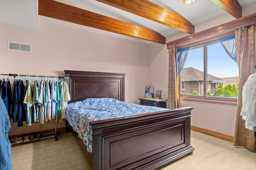
[[[102,97],[124,101],[123,73],[65,70],[65,76],[69,76],[70,102]],[[92,153],[68,123],[67,127],[93,170],[150,170],[193,153],[191,110],[182,107],[90,122]]]

